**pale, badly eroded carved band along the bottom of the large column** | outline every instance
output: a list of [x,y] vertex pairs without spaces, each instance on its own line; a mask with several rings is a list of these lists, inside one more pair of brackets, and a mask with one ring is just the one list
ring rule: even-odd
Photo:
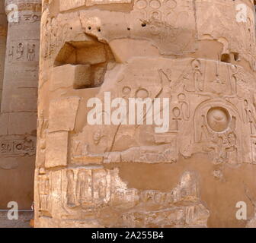
[[[120,180],[118,169],[67,169],[66,177],[66,209],[72,214],[81,207],[90,213],[115,206],[120,217],[107,220],[108,226],[206,226],[210,215],[200,202],[194,172],[184,172],[178,185],[168,192],[129,189]],[[124,207],[129,209],[126,213],[121,211]],[[101,217],[106,220],[108,213]],[[138,218],[142,219],[139,224]]]

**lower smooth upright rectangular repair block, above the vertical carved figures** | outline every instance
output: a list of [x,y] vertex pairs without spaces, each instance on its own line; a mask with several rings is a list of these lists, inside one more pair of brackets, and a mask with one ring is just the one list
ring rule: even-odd
[[46,135],[46,168],[67,165],[68,138],[67,131]]

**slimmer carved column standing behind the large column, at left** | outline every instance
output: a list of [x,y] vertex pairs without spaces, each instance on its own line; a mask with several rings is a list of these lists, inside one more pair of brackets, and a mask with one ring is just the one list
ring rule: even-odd
[[34,189],[41,1],[6,0],[5,9],[10,19],[0,118],[0,207],[12,200],[24,209],[30,208]]

